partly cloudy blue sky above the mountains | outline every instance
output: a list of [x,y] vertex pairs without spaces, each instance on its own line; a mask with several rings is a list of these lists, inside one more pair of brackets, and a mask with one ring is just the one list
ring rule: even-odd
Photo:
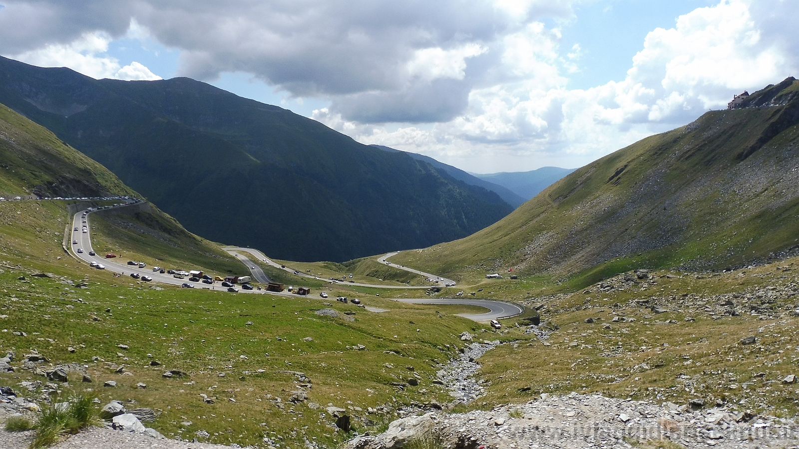
[[799,74],[796,0],[0,0],[0,54],[192,77],[473,173],[576,168]]

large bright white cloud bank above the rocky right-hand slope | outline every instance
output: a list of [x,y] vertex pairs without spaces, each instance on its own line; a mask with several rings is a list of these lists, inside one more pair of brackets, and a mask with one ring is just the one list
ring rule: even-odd
[[[582,165],[721,109],[733,93],[796,74],[799,54],[791,50],[797,49],[797,38],[786,38],[787,26],[785,33],[773,32],[773,18],[791,17],[796,6],[757,3],[753,8],[745,0],[724,0],[682,15],[674,28],[651,31],[624,80],[592,89],[567,89],[564,74],[574,70],[570,62],[579,58],[579,47],[562,58],[558,30],[533,22],[507,34],[503,46],[491,47],[502,50],[493,68],[497,82],[475,85],[466,109],[451,121],[389,132],[348,124],[340,116],[319,118],[364,143],[461,161],[464,169],[483,173],[553,161]],[[515,166],[491,168],[487,155]],[[519,158],[526,166],[518,165]]]

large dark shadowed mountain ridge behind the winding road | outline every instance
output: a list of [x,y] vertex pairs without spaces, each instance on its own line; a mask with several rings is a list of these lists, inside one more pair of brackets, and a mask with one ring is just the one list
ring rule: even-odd
[[0,101],[53,130],[211,240],[348,260],[467,236],[495,193],[188,78],[93,80],[0,58]]

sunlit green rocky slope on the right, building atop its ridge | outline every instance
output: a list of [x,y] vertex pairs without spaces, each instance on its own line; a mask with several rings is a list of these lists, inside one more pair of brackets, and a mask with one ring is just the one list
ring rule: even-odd
[[[799,81],[582,167],[508,217],[397,263],[586,282],[637,267],[727,268],[799,244]],[[776,100],[775,100],[776,99]],[[765,106],[768,105],[768,106]]]

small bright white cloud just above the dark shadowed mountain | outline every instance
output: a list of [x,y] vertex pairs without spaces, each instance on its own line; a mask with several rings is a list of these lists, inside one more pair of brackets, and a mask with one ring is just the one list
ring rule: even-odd
[[101,79],[157,80],[138,62],[121,66],[117,58],[106,54],[111,38],[102,32],[87,33],[69,44],[51,44],[40,50],[30,50],[11,56],[18,61],[40,67],[69,67],[86,76]]

